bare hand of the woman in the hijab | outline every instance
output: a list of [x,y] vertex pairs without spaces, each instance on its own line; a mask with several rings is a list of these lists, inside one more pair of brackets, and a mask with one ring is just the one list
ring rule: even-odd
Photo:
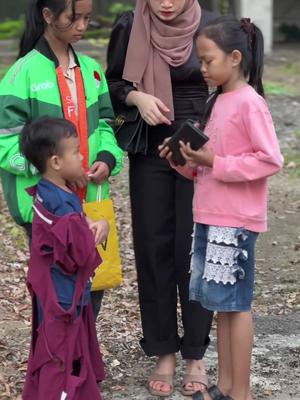
[[170,112],[170,110],[160,99],[151,94],[132,90],[126,98],[126,103],[135,105],[148,125],[171,125],[171,121],[163,114]]

